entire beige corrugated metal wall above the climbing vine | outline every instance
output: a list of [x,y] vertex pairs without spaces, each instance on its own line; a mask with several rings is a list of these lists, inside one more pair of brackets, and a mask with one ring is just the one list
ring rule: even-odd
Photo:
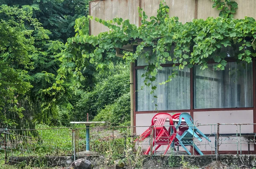
[[[115,17],[129,19],[131,23],[139,26],[140,18],[138,6],[143,8],[148,17],[156,16],[161,0],[101,0],[90,2],[90,15],[103,20],[112,20]],[[238,3],[235,18],[244,16],[256,18],[256,0],[235,0]],[[169,6],[169,16],[179,17],[180,22],[191,22],[194,18],[206,19],[218,17],[219,11],[212,8],[212,0],[166,0]],[[90,21],[90,34],[97,35],[108,31],[102,24]]]

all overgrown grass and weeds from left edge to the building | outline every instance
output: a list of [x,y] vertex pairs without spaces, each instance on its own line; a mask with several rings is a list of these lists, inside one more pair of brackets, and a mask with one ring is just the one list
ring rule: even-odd
[[[76,147],[77,152],[86,150],[86,128],[83,124],[76,126]],[[37,137],[22,137],[10,136],[7,145],[8,157],[21,156],[47,156],[47,155],[72,155],[72,130],[71,128],[54,128],[49,129],[47,125],[37,125]],[[75,129],[75,128],[73,128]],[[132,161],[132,158],[139,161],[138,155],[140,152],[133,151],[134,145],[130,138],[125,138],[125,135],[130,135],[129,127],[102,127],[90,128],[90,151],[98,152],[106,158],[105,166],[113,165],[116,159],[122,158],[126,163],[137,165]],[[129,154],[129,155],[128,155]],[[130,156],[133,157],[130,157]],[[129,158],[128,158],[129,157]],[[4,151],[1,150],[0,158],[4,159]],[[13,166],[4,166],[4,161],[0,161],[1,169],[12,169]],[[26,165],[25,165],[26,166]],[[24,166],[24,167],[25,167]],[[38,165],[40,167],[46,167]],[[19,166],[16,166],[20,167]],[[26,166],[25,169],[32,169]],[[29,168],[30,167],[30,168]],[[38,168],[39,169],[39,168]]]

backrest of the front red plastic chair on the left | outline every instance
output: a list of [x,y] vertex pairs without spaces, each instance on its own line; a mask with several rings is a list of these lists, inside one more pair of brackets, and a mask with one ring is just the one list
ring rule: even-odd
[[157,113],[156,115],[154,115],[154,117],[151,120],[151,125],[154,126],[164,126],[166,119],[169,119],[169,125],[172,127],[169,127],[168,132],[170,133],[171,128],[175,130],[176,129],[174,127],[173,121],[172,121],[172,115],[170,115],[169,113]]

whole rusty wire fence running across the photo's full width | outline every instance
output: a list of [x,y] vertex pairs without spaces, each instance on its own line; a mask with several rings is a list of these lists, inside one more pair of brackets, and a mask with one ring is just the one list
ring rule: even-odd
[[[183,142],[191,155],[196,155],[198,147],[204,155],[221,154],[256,154],[256,133],[250,132],[256,124],[195,124],[206,137],[201,141],[194,136]],[[166,129],[170,126],[166,125]],[[140,135],[148,126],[136,127],[64,127],[34,130],[0,130],[0,161],[8,162],[13,157],[42,156],[77,156],[105,155],[112,157],[124,156],[129,152],[145,152],[149,155],[162,155],[168,146],[167,154],[186,155],[185,149],[173,140],[172,136],[162,137],[162,144],[157,151],[156,131],[151,132],[143,140]],[[35,132],[34,135],[31,132]],[[20,134],[23,133],[23,134]],[[136,134],[131,134],[136,133]],[[177,131],[178,133],[178,131]],[[175,142],[176,141],[176,142]]]

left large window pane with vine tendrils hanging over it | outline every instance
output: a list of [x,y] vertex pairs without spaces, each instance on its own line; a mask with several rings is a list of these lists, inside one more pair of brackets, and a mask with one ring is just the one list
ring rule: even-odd
[[[158,71],[157,89],[154,94],[150,94],[151,87],[144,85],[144,79],[141,75],[145,73],[144,69],[137,70],[137,111],[156,110],[154,104],[157,104],[157,110],[188,110],[190,109],[190,69],[185,67],[177,71],[177,76],[171,82],[165,85],[159,85],[165,82],[168,76],[172,75],[173,67],[165,67]],[[157,98],[154,98],[157,96]],[[154,102],[155,100],[155,102]]]

